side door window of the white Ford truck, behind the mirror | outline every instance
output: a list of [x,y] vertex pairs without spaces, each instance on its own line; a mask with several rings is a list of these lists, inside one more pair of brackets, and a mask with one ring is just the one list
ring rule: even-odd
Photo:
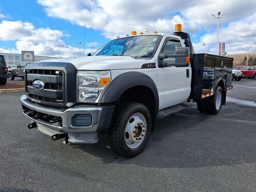
[[[172,55],[175,54],[175,49],[177,47],[181,47],[180,41],[177,40],[169,40],[166,45],[164,46],[164,50],[162,51],[162,54],[168,54],[168,55]],[[163,59],[164,63],[174,63],[175,62],[175,58],[165,58]]]

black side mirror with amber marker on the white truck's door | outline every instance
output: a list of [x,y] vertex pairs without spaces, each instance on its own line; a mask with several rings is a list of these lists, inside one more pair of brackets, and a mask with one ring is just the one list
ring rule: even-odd
[[160,54],[160,60],[165,58],[175,58],[174,63],[166,63],[160,62],[159,67],[166,67],[166,66],[176,66],[176,67],[185,67],[189,66],[190,63],[190,53],[188,47],[177,47],[175,49],[175,54],[168,55],[168,54]]

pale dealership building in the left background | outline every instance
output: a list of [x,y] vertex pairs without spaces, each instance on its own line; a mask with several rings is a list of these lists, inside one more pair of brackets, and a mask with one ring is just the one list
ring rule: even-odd
[[4,60],[6,65],[18,65],[22,61],[42,61],[46,59],[52,59],[55,57],[47,57],[47,56],[36,56],[34,55],[34,51],[21,51],[21,54],[12,54],[12,53],[0,53],[0,55],[4,56]]

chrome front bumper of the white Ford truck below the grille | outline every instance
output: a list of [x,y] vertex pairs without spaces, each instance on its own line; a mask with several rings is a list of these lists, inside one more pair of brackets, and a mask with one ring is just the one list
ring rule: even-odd
[[[72,143],[98,142],[99,132],[106,129],[109,126],[112,117],[112,112],[114,111],[114,106],[97,107],[91,105],[79,105],[68,109],[43,106],[31,102],[26,98],[26,95],[22,95],[20,100],[22,104],[22,109],[28,108],[36,112],[61,117],[62,126],[58,126],[56,124],[44,122],[43,120],[40,120],[38,118],[33,118],[29,116],[25,112],[25,110],[23,111],[24,115],[26,115],[32,121],[36,122],[37,130],[50,136],[53,136],[54,134],[68,133],[68,141]],[[103,109],[104,112],[102,114]],[[88,127],[72,126],[71,118],[76,114],[90,114],[92,116],[92,124]],[[101,115],[104,117],[101,117]]]

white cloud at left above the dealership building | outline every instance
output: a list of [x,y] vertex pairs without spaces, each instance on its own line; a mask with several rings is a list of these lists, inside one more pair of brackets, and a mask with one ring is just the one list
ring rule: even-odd
[[[35,28],[32,23],[22,21],[6,21],[0,23],[0,40],[16,40],[15,49],[1,48],[0,52],[20,53],[21,50],[32,50],[42,56],[78,56],[79,48],[68,46],[60,38],[68,36],[59,30]],[[92,44],[96,44],[93,42]],[[81,50],[82,51],[82,50]],[[86,52],[91,52],[86,49]]]

